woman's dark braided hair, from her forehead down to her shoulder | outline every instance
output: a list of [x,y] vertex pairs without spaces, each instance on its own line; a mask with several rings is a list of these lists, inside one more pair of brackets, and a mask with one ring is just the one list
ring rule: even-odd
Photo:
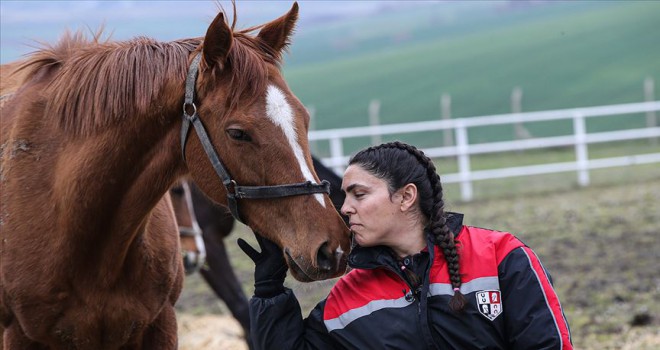
[[[427,229],[429,231],[429,236],[433,243],[439,246],[442,249],[445,260],[447,261],[447,268],[449,270],[449,276],[451,285],[454,290],[454,295],[449,300],[449,308],[452,311],[459,312],[465,307],[465,297],[460,291],[461,288],[461,275],[460,275],[460,264],[459,264],[459,254],[456,246],[456,241],[454,240],[454,234],[451,232],[447,226],[447,218],[444,214],[444,199],[443,199],[443,190],[442,183],[440,181],[440,176],[438,175],[435,165],[429,157],[427,157],[424,152],[417,149],[414,146],[402,143],[402,142],[389,142],[384,143],[378,146],[373,146],[365,149],[360,152],[361,154],[369,154],[378,152],[380,149],[400,149],[406,151],[408,154],[414,156],[417,160],[417,163],[423,166],[426,169],[426,179],[430,184],[430,191],[432,192],[429,203],[422,203],[420,198],[420,207],[422,211],[428,216]],[[356,155],[353,160],[358,158]],[[351,163],[353,163],[353,160]],[[361,162],[361,161],[357,161]],[[375,166],[374,166],[375,168]],[[389,176],[390,178],[392,176]],[[395,187],[404,184],[392,184]],[[417,184],[418,187],[421,184]],[[396,190],[397,188],[393,188]],[[420,193],[422,189],[419,189]]]

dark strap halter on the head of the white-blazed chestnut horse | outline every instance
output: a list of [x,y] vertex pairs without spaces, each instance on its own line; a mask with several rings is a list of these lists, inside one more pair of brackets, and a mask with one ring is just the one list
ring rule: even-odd
[[[232,216],[236,220],[245,223],[238,212],[237,199],[264,199],[264,198],[280,198],[289,196],[299,196],[315,193],[330,194],[330,182],[323,180],[320,184],[312,183],[311,181],[293,183],[286,185],[274,186],[239,186],[234,181],[215,151],[208,133],[202,124],[202,121],[197,114],[197,106],[195,106],[195,83],[197,81],[197,72],[199,70],[199,62],[202,55],[198,53],[190,63],[188,76],[186,77],[186,95],[183,102],[183,123],[181,125],[181,152],[183,153],[183,160],[186,160],[186,140],[190,131],[190,125],[195,128],[197,137],[199,137],[204,152],[211,161],[213,169],[222,180],[222,184],[227,190],[227,202]],[[189,111],[191,113],[189,113]]]

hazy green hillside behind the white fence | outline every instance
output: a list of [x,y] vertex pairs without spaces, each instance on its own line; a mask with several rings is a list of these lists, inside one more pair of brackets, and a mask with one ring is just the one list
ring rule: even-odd
[[[367,125],[374,98],[381,122],[396,123],[439,118],[442,93],[452,96],[453,117],[469,117],[510,112],[515,86],[523,111],[534,111],[640,102],[644,78],[660,82],[656,1],[429,3],[317,27],[297,33],[284,66],[293,91],[314,107],[316,129]],[[606,124],[588,127],[643,125],[643,117]],[[470,137],[509,139],[510,129]],[[571,126],[529,129],[561,134]]]

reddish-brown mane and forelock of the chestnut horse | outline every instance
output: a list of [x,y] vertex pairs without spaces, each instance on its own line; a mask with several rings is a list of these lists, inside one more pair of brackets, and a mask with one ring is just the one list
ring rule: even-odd
[[[234,32],[227,58],[227,66],[231,68],[230,109],[237,106],[240,98],[256,98],[265,91],[267,63],[279,63],[278,56],[267,45],[248,35],[257,28],[260,27]],[[57,70],[48,86],[50,98],[45,113],[56,116],[60,127],[74,135],[89,136],[153,110],[153,101],[163,95],[171,79],[185,80],[190,53],[201,50],[203,40],[163,43],[136,37],[110,41],[101,40],[101,36],[102,29],[91,39],[80,31],[65,32],[57,44],[44,44],[20,67],[28,70],[26,79],[43,69]],[[204,69],[202,65],[200,74]],[[212,76],[217,77],[218,73]],[[182,88],[182,100],[183,94]]]

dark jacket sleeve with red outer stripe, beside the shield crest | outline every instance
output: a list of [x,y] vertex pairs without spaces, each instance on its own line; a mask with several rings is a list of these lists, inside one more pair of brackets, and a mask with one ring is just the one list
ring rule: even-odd
[[499,279],[511,349],[573,349],[551,277],[530,248],[511,251],[500,262]]

